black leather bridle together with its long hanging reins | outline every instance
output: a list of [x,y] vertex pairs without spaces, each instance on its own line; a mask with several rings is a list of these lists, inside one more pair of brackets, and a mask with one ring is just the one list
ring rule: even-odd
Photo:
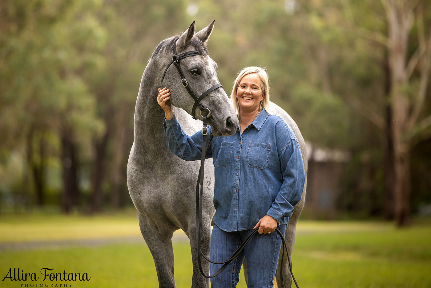
[[[178,41],[178,40],[177,40]],[[203,127],[202,127],[202,158],[201,158],[201,162],[200,162],[200,169],[199,169],[199,176],[197,178],[197,183],[196,183],[196,239],[197,239],[197,251],[198,251],[198,257],[197,257],[197,262],[198,262],[198,266],[200,269],[200,273],[206,277],[206,278],[213,278],[217,275],[219,275],[228,265],[229,263],[231,263],[232,260],[234,260],[238,254],[241,252],[241,250],[244,249],[245,245],[248,243],[248,241],[250,241],[251,237],[253,237],[253,235],[255,235],[259,229],[256,229],[255,231],[253,231],[249,237],[247,237],[247,239],[244,241],[243,244],[241,244],[240,247],[238,247],[238,249],[235,251],[235,253],[226,261],[224,262],[214,262],[209,260],[208,258],[206,258],[206,256],[203,254],[202,249],[200,248],[200,239],[201,239],[201,230],[202,230],[202,197],[203,197],[203,170],[205,168],[205,158],[206,158],[206,154],[208,152],[208,148],[209,145],[211,143],[212,140],[212,134],[210,133],[209,136],[209,140],[208,140],[208,144],[207,144],[207,135],[208,135],[208,123],[207,123],[207,118],[211,116],[211,111],[206,108],[203,107],[202,103],[200,103],[200,101],[209,94],[209,92],[212,92],[213,90],[222,87],[222,84],[217,83],[214,86],[212,86],[211,88],[209,88],[208,90],[206,90],[205,92],[203,92],[202,95],[199,96],[199,98],[194,94],[193,89],[191,89],[190,85],[187,82],[186,77],[184,76],[183,70],[181,69],[181,65],[180,65],[180,60],[185,58],[185,57],[190,57],[190,56],[197,56],[197,55],[202,55],[199,53],[199,51],[189,51],[189,52],[185,52],[183,54],[179,54],[177,55],[177,41],[175,41],[174,44],[174,51],[173,51],[173,55],[172,55],[172,60],[171,62],[168,64],[168,66],[165,69],[165,73],[163,73],[163,77],[162,77],[162,87],[163,87],[163,79],[165,78],[166,72],[168,71],[169,66],[171,66],[171,64],[173,63],[175,67],[177,67],[178,73],[181,76],[181,84],[185,87],[185,89],[187,89],[187,92],[191,95],[191,97],[194,99],[194,105],[193,105],[193,109],[191,111],[192,113],[192,117],[193,119],[197,119],[195,117],[195,111],[196,111],[196,107],[199,107],[200,109],[200,115],[203,118]],[[204,112],[202,114],[202,112]],[[280,237],[281,237],[281,241],[283,242],[282,247],[283,247],[283,253],[281,254],[281,263],[283,263],[283,258],[284,258],[284,249],[286,249],[287,251],[287,244],[286,241],[284,240],[284,235],[280,232],[280,230],[278,230],[278,228],[275,228],[275,232],[277,232]],[[222,268],[220,268],[217,272],[215,272],[213,275],[209,275],[207,276],[205,274],[205,272],[203,272],[202,269],[202,264],[201,264],[201,259],[200,256],[203,256],[203,258],[205,258],[208,262],[214,263],[214,264],[224,264],[222,266]],[[287,260],[289,262],[289,269],[290,269],[290,275],[292,275],[292,278],[296,284],[296,286],[298,287],[298,284],[295,280],[294,274],[292,272],[292,262],[290,260],[290,256],[289,256],[289,252],[287,251]],[[281,282],[281,287],[284,288],[284,282],[283,282],[283,271],[280,271],[280,282]]]

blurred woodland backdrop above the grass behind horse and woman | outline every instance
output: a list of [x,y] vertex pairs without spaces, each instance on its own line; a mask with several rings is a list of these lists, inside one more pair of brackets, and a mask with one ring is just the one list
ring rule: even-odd
[[126,165],[147,61],[213,19],[226,93],[243,67],[265,67],[271,100],[308,143],[302,218],[431,215],[426,0],[2,0],[0,213],[133,206]]

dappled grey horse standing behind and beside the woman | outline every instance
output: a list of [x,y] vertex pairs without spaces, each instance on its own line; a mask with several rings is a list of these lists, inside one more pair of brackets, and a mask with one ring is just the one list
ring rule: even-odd
[[[131,199],[138,211],[142,236],[156,265],[159,287],[175,287],[172,234],[178,229],[182,229],[190,239],[193,261],[191,287],[208,287],[208,280],[200,274],[197,264],[195,233],[195,187],[200,161],[184,161],[168,149],[162,127],[165,115],[157,104],[156,98],[158,88],[169,87],[172,95],[170,102],[184,132],[191,135],[202,129],[202,121],[194,120],[191,117],[191,114],[200,117],[200,113],[198,109],[192,111],[194,100],[181,85],[181,77],[175,67],[171,66],[166,72],[163,84],[160,82],[166,66],[172,59],[175,43],[177,54],[195,50],[202,54],[181,60],[181,67],[187,81],[197,95],[219,82],[217,64],[208,56],[206,50],[206,42],[213,25],[214,21],[195,34],[193,22],[181,36],[174,36],[160,42],[144,70],[137,96],[134,114],[134,143],[128,159],[127,184]],[[192,76],[189,72],[196,68],[200,70],[198,77]],[[190,78],[188,78],[189,76]],[[209,117],[208,123],[214,136],[231,136],[236,132],[238,119],[223,89],[215,89],[201,102],[204,107],[211,110],[212,117]],[[303,138],[294,121],[281,108],[275,104],[272,105],[276,111],[275,114],[282,114],[282,117],[287,120],[297,135],[301,150],[305,151]],[[305,157],[304,154],[303,157]],[[306,164],[306,158],[304,159]],[[212,204],[214,166],[212,159],[207,159],[205,163],[201,248],[208,257],[211,222],[215,213]],[[286,232],[286,235],[289,233],[286,240],[290,251],[295,238],[295,228],[292,232],[290,226],[295,227],[302,207],[303,199],[295,206],[295,213],[291,217],[287,230],[289,232]],[[203,271],[208,274],[209,263],[203,261],[202,264]],[[289,283],[288,279],[285,282]],[[286,285],[286,287],[290,287],[290,285]]]

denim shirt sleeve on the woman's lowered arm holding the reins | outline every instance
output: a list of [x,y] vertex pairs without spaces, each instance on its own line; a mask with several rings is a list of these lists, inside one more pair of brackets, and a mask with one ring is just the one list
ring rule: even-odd
[[304,164],[297,140],[290,139],[290,142],[280,152],[279,157],[283,183],[275,201],[267,212],[267,215],[277,221],[292,215],[294,206],[301,200],[305,185]]

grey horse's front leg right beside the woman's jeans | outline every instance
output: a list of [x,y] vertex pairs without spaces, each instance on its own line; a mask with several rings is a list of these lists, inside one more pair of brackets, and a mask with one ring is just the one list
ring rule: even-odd
[[[211,240],[211,225],[210,221],[206,221],[205,216],[202,219],[202,230],[201,230],[201,241],[200,241],[200,249],[202,250],[203,255],[205,255],[209,259],[209,242]],[[193,261],[193,280],[192,280],[192,288],[201,288],[208,287],[208,279],[203,277],[199,270],[199,264],[197,257],[200,256],[200,253],[197,252],[197,241],[196,241],[196,223],[194,218],[189,223],[187,228],[187,236],[190,239],[190,247],[191,247],[191,257]],[[206,275],[209,275],[209,262],[206,261],[202,256],[201,257],[201,266],[202,270]]]

